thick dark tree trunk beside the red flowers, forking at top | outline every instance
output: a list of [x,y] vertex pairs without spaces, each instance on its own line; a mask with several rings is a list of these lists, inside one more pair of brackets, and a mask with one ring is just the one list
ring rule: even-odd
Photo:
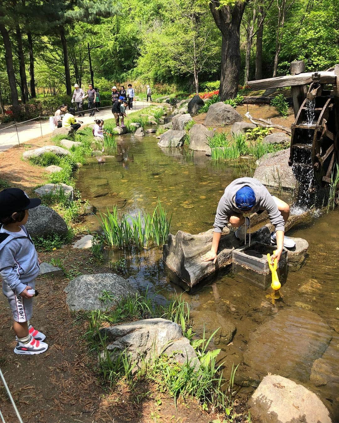
[[222,101],[237,95],[240,73],[240,23],[246,3],[237,1],[234,6],[220,7],[215,1],[209,3],[213,19],[222,34],[221,76],[219,96]]

